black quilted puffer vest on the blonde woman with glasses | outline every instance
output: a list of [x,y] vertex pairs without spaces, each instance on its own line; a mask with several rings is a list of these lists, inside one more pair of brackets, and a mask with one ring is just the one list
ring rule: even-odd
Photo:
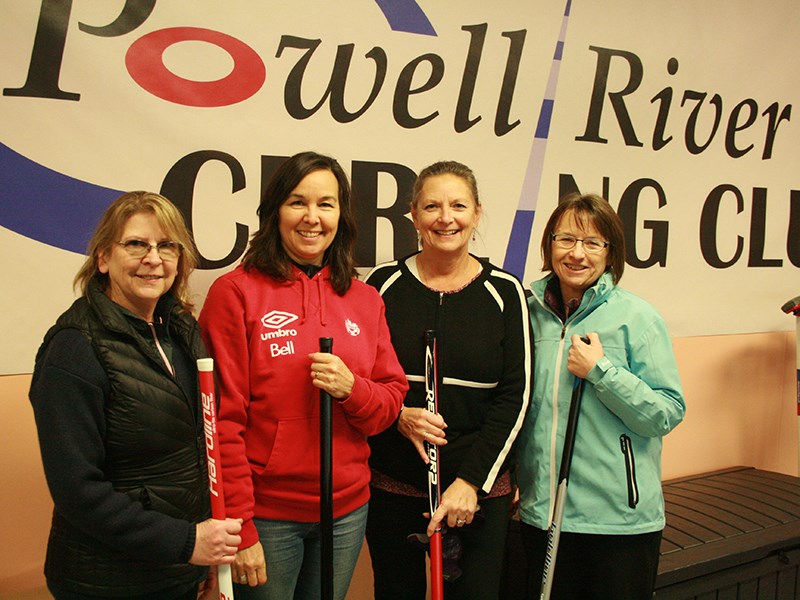
[[[114,489],[148,510],[197,523],[210,516],[205,445],[198,399],[188,398],[152,342],[136,331],[96,281],[45,336],[40,355],[61,329],[80,330],[108,375],[105,475]],[[170,337],[192,359],[207,356],[196,321],[171,295],[157,314],[168,315]],[[206,569],[188,563],[132,560],[53,511],[45,575],[59,588],[107,598],[146,596],[201,581]]]

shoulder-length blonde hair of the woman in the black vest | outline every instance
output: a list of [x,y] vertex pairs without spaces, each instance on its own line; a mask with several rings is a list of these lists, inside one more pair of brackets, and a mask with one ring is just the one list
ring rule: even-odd
[[80,288],[81,295],[85,296],[89,282],[97,277],[103,289],[108,289],[108,274],[101,273],[97,268],[99,256],[101,253],[111,254],[114,244],[122,235],[125,224],[131,217],[140,213],[153,215],[164,234],[183,247],[178,257],[175,281],[168,293],[175,297],[181,310],[191,313],[194,303],[189,290],[189,275],[197,266],[197,252],[192,235],[177,207],[164,196],[155,192],[127,192],[109,205],[103,216],[100,217],[92,239],[89,240],[86,251],[88,256],[75,275],[73,287]]

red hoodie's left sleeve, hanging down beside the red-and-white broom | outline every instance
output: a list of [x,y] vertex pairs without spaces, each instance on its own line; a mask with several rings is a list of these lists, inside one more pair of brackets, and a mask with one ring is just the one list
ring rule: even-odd
[[208,291],[198,319],[203,341],[214,358],[219,385],[217,432],[222,460],[225,507],[230,518],[244,519],[242,548],[258,541],[253,524],[253,481],[244,442],[250,404],[250,353],[242,290],[222,277]]

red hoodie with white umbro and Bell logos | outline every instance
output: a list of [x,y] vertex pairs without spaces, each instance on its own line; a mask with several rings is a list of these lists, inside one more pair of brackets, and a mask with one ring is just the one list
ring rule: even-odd
[[397,419],[408,383],[378,292],[353,281],[334,292],[326,267],[292,267],[278,281],[243,267],[211,286],[200,314],[220,389],[219,440],[228,517],[243,518],[242,548],[258,541],[253,517],[319,521],[319,389],[308,355],[319,338],[355,376],[333,402],[334,518],[369,499],[366,438]]

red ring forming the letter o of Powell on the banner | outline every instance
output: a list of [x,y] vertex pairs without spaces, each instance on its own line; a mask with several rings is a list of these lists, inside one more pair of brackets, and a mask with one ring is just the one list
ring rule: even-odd
[[[217,81],[191,81],[164,65],[164,51],[178,42],[200,41],[225,50],[233,70]],[[136,40],[125,55],[125,66],[142,88],[168,102],[185,106],[229,106],[247,100],[264,84],[266,67],[256,52],[227,34],[199,27],[159,29]]]

